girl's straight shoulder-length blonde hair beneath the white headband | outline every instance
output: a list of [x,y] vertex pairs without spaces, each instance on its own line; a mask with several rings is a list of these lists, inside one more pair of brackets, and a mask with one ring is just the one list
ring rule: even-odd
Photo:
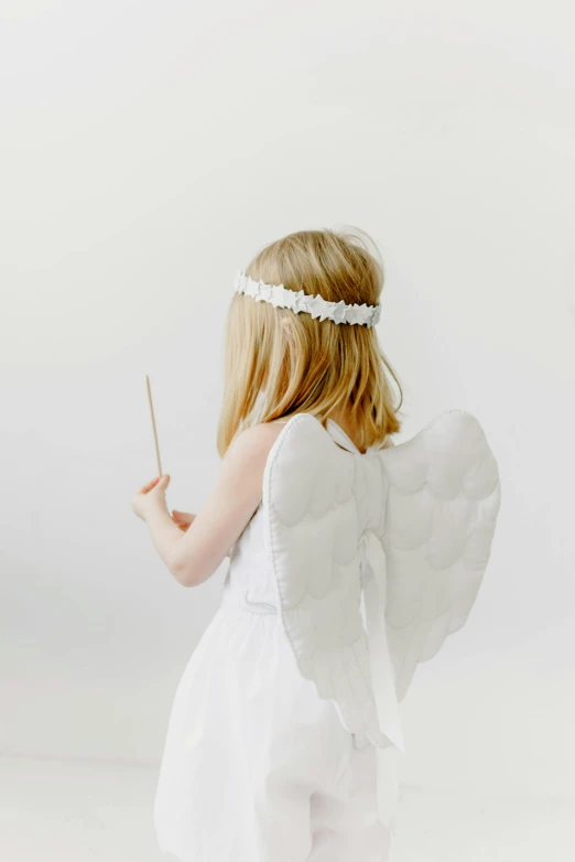
[[[300,230],[265,246],[245,270],[268,284],[319,294],[328,302],[376,305],[383,265],[369,237],[351,231]],[[364,239],[365,237],[365,239]],[[375,326],[319,321],[235,293],[226,321],[224,399],[217,449],[224,456],[237,433],[294,413],[344,410],[366,450],[401,428],[401,385]],[[395,381],[395,406],[388,373]]]

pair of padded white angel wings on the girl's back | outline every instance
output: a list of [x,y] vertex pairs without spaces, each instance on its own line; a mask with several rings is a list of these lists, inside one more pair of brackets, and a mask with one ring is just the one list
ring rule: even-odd
[[[495,532],[497,464],[479,422],[463,410],[367,454],[337,429],[346,449],[311,413],[291,417],[265,465],[265,541],[279,612],[300,671],[334,700],[346,729],[402,748],[399,715],[389,703],[378,715],[383,680],[373,686],[381,659],[373,653],[389,647],[392,670],[381,662],[379,670],[393,677],[401,701],[416,665],[464,625]],[[371,661],[361,613],[366,569],[381,600],[368,616],[387,640],[381,631],[380,647],[371,638]]]

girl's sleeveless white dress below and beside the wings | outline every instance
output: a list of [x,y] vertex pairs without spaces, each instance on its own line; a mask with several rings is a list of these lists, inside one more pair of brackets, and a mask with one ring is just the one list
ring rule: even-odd
[[376,750],[297,668],[263,515],[261,503],[232,547],[220,606],[176,689],[154,801],[160,850],[178,862],[384,862]]

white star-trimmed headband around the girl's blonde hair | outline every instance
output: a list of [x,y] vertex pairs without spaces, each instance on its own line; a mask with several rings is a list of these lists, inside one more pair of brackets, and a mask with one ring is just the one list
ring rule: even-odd
[[312,317],[319,317],[321,321],[330,320],[334,323],[357,323],[366,326],[373,326],[378,323],[381,315],[381,305],[346,305],[340,302],[328,302],[323,297],[311,297],[303,290],[288,290],[283,284],[264,284],[263,281],[256,281],[250,276],[246,276],[242,270],[238,270],[234,282],[236,293],[246,293],[252,297],[256,302],[269,302],[276,309],[291,309],[295,314],[305,311]]

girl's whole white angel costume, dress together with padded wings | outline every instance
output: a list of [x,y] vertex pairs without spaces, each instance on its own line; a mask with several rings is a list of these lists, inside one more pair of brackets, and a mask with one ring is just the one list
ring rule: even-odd
[[161,850],[180,862],[388,859],[398,704],[464,625],[499,504],[469,413],[364,454],[332,420],[290,417],[175,694]]

